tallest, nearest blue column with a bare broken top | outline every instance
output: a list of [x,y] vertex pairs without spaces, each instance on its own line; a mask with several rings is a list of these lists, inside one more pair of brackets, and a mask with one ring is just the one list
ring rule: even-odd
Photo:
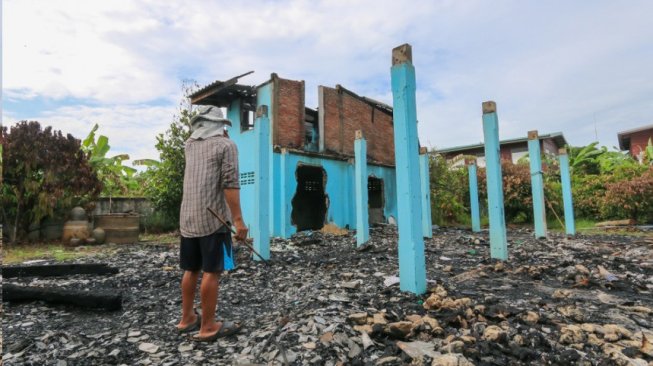
[[426,292],[424,237],[415,103],[415,68],[412,48],[392,50],[392,99],[399,226],[399,288]]

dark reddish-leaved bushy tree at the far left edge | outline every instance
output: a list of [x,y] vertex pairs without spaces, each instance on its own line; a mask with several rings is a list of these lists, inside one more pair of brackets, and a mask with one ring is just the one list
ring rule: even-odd
[[35,121],[2,128],[4,180],[2,218],[12,224],[11,242],[55,211],[70,208],[75,199],[93,198],[102,189],[80,141],[70,134],[45,129]]

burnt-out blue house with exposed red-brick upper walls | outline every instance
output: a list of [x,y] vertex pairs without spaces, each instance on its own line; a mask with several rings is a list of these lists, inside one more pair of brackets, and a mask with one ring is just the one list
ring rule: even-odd
[[[258,85],[216,81],[190,95],[195,105],[226,108],[239,150],[241,204],[254,217],[255,110],[267,105],[272,151],[270,234],[288,237],[327,223],[356,227],[354,139],[367,141],[369,222],[397,218],[392,107],[337,85],[318,87],[318,107],[304,105],[304,81],[272,74]],[[394,221],[394,220],[392,220]]]

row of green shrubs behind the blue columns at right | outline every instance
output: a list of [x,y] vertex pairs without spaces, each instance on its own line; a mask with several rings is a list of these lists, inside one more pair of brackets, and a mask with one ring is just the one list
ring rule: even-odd
[[[632,218],[653,221],[650,166],[640,165],[621,152],[586,147],[570,148],[572,196],[577,218],[593,221]],[[653,150],[652,150],[653,151]],[[506,222],[531,223],[533,219],[531,177],[528,160],[518,164],[502,161]],[[555,158],[543,158],[544,197],[547,219],[562,219],[562,186]],[[451,169],[439,156],[431,161],[431,208],[438,224],[469,222],[467,169]],[[486,171],[478,169],[479,203],[487,207]],[[554,214],[555,213],[555,214]]]

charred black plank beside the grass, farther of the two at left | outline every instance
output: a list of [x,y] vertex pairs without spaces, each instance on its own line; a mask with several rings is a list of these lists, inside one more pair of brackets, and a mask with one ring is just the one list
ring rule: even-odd
[[34,266],[11,266],[2,268],[4,278],[15,277],[55,277],[75,274],[116,274],[118,268],[109,267],[106,263],[86,264],[48,264]]

